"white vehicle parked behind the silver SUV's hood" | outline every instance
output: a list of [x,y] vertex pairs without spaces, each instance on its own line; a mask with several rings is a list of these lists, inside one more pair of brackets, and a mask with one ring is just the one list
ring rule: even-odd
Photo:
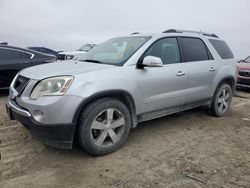
[[96,46],[96,44],[85,44],[79,50],[76,50],[76,51],[60,52],[57,55],[57,59],[58,60],[72,60],[72,59],[75,59],[75,58],[81,56],[82,54],[85,54],[86,52],[88,52],[89,50],[94,48],[95,46]]

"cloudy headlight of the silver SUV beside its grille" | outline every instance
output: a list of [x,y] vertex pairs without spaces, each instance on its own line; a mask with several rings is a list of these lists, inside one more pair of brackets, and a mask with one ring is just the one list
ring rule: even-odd
[[42,96],[64,95],[73,79],[73,76],[58,76],[42,80],[35,86],[30,98],[36,100]]

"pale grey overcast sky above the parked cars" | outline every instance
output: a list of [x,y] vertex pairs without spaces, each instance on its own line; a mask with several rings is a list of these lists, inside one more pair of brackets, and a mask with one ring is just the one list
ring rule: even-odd
[[132,32],[215,33],[250,55],[249,0],[0,0],[0,41],[76,50]]

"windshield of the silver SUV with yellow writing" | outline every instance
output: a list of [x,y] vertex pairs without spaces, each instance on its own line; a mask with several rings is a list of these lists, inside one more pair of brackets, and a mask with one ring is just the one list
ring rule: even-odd
[[150,37],[121,37],[110,39],[79,57],[80,61],[123,65]]

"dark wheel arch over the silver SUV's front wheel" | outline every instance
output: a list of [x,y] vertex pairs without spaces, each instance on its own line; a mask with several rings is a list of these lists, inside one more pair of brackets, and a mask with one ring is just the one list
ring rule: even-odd
[[135,107],[135,102],[130,93],[124,90],[108,90],[108,91],[102,91],[99,93],[96,93],[87,99],[83,100],[81,104],[78,106],[75,115],[73,117],[73,123],[77,124],[79,116],[81,112],[84,110],[86,106],[88,106],[90,103],[92,103],[95,100],[101,99],[101,98],[115,98],[123,102],[131,115],[132,119],[132,127],[136,127],[137,125],[137,116],[136,116],[136,107]]

